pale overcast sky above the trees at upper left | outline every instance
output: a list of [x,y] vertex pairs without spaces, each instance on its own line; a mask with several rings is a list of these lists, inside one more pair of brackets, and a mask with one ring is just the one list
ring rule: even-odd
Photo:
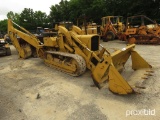
[[46,12],[48,15],[51,5],[59,4],[61,0],[0,0],[0,20],[7,18],[7,13],[21,13],[24,8],[31,8],[33,11]]

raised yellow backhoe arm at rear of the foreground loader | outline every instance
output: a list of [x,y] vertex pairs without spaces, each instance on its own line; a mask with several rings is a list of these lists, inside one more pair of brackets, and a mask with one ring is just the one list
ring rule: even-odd
[[[23,32],[14,28],[13,24]],[[21,58],[28,58],[32,55],[31,46],[37,50],[41,48],[41,42],[36,38],[36,36],[31,34],[25,28],[11,21],[11,19],[8,19],[8,35]]]

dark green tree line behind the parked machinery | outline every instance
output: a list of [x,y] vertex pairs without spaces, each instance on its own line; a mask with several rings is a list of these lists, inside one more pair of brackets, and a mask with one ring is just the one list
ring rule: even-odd
[[[42,11],[33,11],[24,8],[19,13],[10,11],[7,18],[23,26],[27,30],[36,27],[53,27],[52,23],[60,21],[72,21],[85,18],[86,21],[94,21],[101,24],[104,16],[123,16],[126,19],[133,15],[146,15],[152,20],[160,22],[159,0],[61,0],[59,4],[51,5],[50,14]],[[7,31],[7,20],[0,21],[0,31]]]

